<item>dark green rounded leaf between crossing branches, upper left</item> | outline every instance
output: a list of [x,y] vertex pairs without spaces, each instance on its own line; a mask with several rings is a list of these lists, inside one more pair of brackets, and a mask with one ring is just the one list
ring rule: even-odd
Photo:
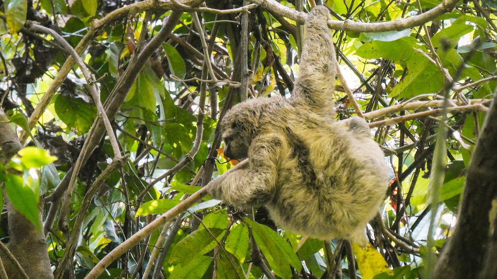
[[79,135],[89,131],[96,117],[95,106],[86,103],[81,98],[59,94],[55,100],[54,108],[68,129],[75,130]]

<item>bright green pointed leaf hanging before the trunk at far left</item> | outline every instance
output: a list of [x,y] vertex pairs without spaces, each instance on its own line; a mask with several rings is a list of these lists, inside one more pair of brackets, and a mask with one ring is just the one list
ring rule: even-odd
[[[37,190],[37,187],[34,187]],[[5,190],[12,205],[24,215],[39,230],[41,229],[38,215],[38,191],[24,184],[24,179],[14,174],[5,175]]]

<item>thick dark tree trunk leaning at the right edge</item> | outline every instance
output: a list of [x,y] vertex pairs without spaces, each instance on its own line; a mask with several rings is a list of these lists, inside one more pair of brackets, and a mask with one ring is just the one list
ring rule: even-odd
[[[494,223],[497,214],[496,150],[497,93],[494,93],[468,167],[454,234],[440,255],[432,278],[480,278],[487,262],[485,255],[496,255],[497,246],[488,245],[495,226],[490,220]],[[490,264],[495,265],[495,262]],[[489,270],[494,273],[487,273],[485,278],[497,278],[496,269],[486,269],[486,272]]]

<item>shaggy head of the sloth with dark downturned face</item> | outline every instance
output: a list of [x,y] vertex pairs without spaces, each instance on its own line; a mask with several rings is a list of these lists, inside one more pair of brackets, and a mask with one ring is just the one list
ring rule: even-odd
[[230,159],[248,157],[248,147],[258,134],[259,120],[270,98],[240,103],[226,113],[221,121],[224,155]]

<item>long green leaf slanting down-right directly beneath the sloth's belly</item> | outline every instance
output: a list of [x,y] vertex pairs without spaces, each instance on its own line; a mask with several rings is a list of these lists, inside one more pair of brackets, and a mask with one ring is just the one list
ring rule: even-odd
[[274,273],[281,278],[291,278],[290,265],[302,269],[302,263],[290,246],[279,234],[269,227],[255,223],[248,218],[245,222],[252,228],[253,238]]

